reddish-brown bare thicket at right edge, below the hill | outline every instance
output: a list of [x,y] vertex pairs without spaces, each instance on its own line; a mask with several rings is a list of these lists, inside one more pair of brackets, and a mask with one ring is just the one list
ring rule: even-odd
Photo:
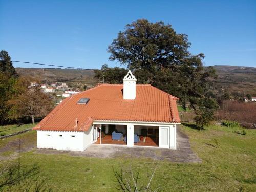
[[215,112],[217,120],[238,121],[240,123],[256,123],[256,103],[223,101]]

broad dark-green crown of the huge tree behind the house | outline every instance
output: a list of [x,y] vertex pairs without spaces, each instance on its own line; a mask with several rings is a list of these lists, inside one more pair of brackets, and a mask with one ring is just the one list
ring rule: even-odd
[[118,33],[108,52],[111,61],[133,70],[138,83],[179,97],[185,109],[187,102],[195,106],[199,98],[214,97],[208,78],[216,76],[212,67],[203,66],[204,54],[192,55],[190,46],[188,36],[171,25],[139,19]]

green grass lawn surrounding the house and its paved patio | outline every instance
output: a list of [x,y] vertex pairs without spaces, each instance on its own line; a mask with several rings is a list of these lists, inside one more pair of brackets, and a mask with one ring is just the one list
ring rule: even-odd
[[[152,181],[153,191],[157,187],[161,187],[158,191],[256,191],[256,130],[246,130],[246,135],[241,135],[236,133],[242,131],[240,127],[212,125],[198,131],[188,124],[181,129],[203,162],[160,161]],[[35,143],[35,137],[35,131],[22,134],[20,138],[26,141],[22,148]],[[0,140],[0,151],[18,139],[14,136]],[[14,146],[8,150],[13,151]],[[140,170],[139,183],[146,184],[156,165],[151,159],[87,158],[35,150],[20,153],[20,161],[27,166],[39,165],[39,176],[48,178],[47,185],[53,191],[117,191],[113,167],[130,164],[135,172]]]

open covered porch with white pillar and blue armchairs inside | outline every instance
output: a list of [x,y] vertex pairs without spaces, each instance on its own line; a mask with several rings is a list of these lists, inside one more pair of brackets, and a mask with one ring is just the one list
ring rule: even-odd
[[96,121],[93,123],[93,143],[126,145],[128,147],[160,147],[175,150],[176,124]]

